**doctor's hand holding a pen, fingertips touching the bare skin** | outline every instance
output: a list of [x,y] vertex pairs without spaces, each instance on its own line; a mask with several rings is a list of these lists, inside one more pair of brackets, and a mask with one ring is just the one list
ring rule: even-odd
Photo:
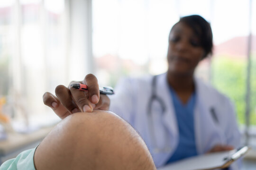
[[[71,87],[73,83],[85,84],[87,91],[80,91]],[[46,92],[43,95],[44,103],[52,108],[54,112],[64,119],[68,115],[76,112],[91,112],[92,110],[109,110],[110,99],[107,95],[101,94],[99,90],[98,80],[88,74],[81,82],[71,82],[67,87],[58,85],[55,88],[55,95]]]

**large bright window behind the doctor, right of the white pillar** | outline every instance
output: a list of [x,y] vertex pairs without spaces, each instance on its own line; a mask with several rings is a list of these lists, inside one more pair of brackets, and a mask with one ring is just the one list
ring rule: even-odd
[[[197,75],[235,103],[241,127],[246,119],[256,125],[255,9],[256,2],[252,0],[93,0],[96,75],[103,83],[114,86],[120,76],[165,72],[171,26],[180,16],[199,14],[211,24],[214,51],[211,59],[201,62]],[[249,48],[251,60],[247,57]],[[249,82],[247,73],[251,74]],[[245,101],[247,85],[251,89],[250,105]],[[247,107],[250,117],[245,115]]]

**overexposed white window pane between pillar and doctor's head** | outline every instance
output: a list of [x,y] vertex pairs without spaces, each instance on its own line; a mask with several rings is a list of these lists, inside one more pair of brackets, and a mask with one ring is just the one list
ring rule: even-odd
[[93,57],[102,84],[114,86],[125,75],[165,72],[168,34],[179,18],[175,1],[92,2]]

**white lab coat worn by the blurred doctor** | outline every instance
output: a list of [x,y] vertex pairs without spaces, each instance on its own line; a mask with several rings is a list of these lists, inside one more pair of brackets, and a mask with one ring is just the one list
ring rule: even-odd
[[[230,144],[238,147],[240,133],[235,117],[234,106],[227,97],[216,89],[195,78],[197,101],[194,110],[195,142],[198,154],[206,153],[216,144]],[[165,162],[174,153],[179,140],[179,132],[174,113],[172,97],[169,92],[166,73],[157,76],[156,94],[165,102],[165,112],[161,113],[159,102],[152,104],[153,125],[147,112],[152,90],[152,76],[144,78],[122,79],[115,87],[115,95],[110,96],[110,111],[128,121],[144,139],[156,167]],[[218,122],[213,119],[212,110]],[[154,143],[150,127],[155,132],[157,148],[169,147],[167,152],[154,152]],[[167,141],[167,142],[166,142]],[[237,170],[236,163],[232,170]]]

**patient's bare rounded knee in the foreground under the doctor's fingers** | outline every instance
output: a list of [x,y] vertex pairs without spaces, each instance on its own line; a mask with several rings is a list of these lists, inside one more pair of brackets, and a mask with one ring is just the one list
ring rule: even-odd
[[156,170],[146,144],[108,111],[75,113],[37,147],[37,170]]

